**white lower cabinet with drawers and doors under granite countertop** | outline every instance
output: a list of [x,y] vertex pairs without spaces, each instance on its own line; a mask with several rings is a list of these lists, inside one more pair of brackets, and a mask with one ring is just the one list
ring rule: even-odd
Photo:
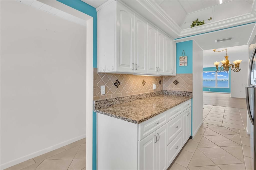
[[97,114],[98,169],[165,170],[190,135],[191,100],[140,124]]

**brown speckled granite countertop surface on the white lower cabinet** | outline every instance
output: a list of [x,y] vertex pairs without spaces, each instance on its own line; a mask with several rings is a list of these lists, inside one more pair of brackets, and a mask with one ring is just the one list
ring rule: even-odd
[[192,96],[158,95],[110,107],[98,108],[95,111],[131,123],[140,124],[191,98]]

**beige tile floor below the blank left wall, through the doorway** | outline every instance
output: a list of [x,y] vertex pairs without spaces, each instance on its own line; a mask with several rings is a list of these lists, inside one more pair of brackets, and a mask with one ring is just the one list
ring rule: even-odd
[[34,157],[5,170],[86,169],[86,138]]

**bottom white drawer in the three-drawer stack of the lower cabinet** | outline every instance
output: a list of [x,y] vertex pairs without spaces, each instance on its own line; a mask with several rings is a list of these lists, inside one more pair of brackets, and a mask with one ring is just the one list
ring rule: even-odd
[[179,151],[182,149],[182,136],[180,132],[174,140],[167,145],[167,167],[173,162]]

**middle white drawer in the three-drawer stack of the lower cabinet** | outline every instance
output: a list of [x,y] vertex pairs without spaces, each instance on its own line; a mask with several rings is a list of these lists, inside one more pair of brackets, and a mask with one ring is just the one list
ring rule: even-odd
[[178,134],[182,131],[182,120],[181,115],[175,117],[173,120],[167,124],[168,136],[167,143],[170,143]]

